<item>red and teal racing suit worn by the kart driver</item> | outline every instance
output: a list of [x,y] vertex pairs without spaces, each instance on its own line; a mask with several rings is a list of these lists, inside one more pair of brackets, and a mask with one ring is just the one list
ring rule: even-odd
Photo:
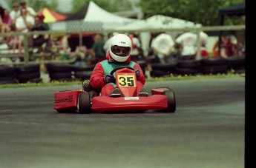
[[116,87],[116,84],[114,83],[106,84],[104,82],[104,76],[107,74],[110,74],[111,71],[116,69],[117,67],[132,67],[140,71],[140,76],[137,77],[137,91],[139,93],[139,91],[142,89],[142,87],[145,84],[145,76],[142,72],[140,64],[138,64],[137,61],[135,60],[131,60],[131,56],[129,56],[125,62],[114,61],[109,51],[107,54],[107,58],[102,58],[95,65],[90,78],[91,86],[95,89],[102,89],[101,93],[104,96],[110,95],[112,90],[114,90],[114,88]]

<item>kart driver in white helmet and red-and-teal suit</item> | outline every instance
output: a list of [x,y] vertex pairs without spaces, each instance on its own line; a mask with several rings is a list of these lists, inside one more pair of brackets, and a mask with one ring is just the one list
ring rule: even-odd
[[114,76],[111,71],[117,67],[132,67],[137,76],[137,91],[139,96],[148,96],[145,89],[145,76],[140,64],[132,60],[131,39],[124,34],[117,34],[111,38],[111,45],[108,49],[106,58],[102,58],[93,69],[90,78],[91,87],[101,89],[104,96],[120,97],[120,91],[114,84]]

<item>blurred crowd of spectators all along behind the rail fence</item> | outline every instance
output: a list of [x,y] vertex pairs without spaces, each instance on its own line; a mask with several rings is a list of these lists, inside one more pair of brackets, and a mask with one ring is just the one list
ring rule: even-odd
[[[36,30],[50,30],[49,26],[44,23],[45,16],[36,14],[33,8],[28,7],[25,1],[13,3],[13,9],[8,10],[0,7],[0,30],[1,33],[11,31],[27,32]],[[106,56],[109,48],[109,38],[115,33],[110,33],[106,38],[102,34],[93,34],[92,47],[86,47],[79,44],[75,50],[70,50],[68,39],[70,35],[59,38],[58,45],[61,59],[74,59],[76,66],[85,66],[86,64],[96,64],[100,58]],[[131,56],[134,58],[145,58],[154,56],[151,59],[154,63],[174,63],[180,60],[196,59],[197,54],[197,35],[186,30],[177,37],[172,37],[168,33],[151,33],[151,42],[147,56],[144,56],[140,36],[135,33],[127,33],[132,41]],[[206,49],[209,36],[203,31],[200,32],[200,56],[207,58],[209,56],[220,56],[220,58],[229,58],[230,56],[245,56],[245,45],[231,36],[222,36],[220,50],[218,41],[214,44],[211,54]],[[50,36],[33,36],[29,37],[29,47],[40,47],[47,44]],[[24,52],[24,36],[2,36],[1,43],[4,41],[12,53]],[[20,57],[13,57],[13,61],[21,61]],[[93,60],[93,61],[91,61]]]

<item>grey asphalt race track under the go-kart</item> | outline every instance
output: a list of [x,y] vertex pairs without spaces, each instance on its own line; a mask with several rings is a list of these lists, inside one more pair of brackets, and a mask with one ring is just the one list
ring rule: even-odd
[[148,82],[174,113],[57,113],[53,93],[0,89],[0,167],[245,167],[245,78]]

